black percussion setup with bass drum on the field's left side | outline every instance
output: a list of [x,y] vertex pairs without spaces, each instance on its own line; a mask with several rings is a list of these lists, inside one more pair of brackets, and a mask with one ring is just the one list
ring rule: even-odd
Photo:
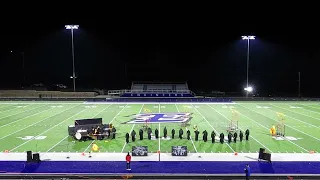
[[115,129],[112,124],[103,124],[102,118],[79,119],[68,127],[69,136],[76,140],[103,140],[112,137]]

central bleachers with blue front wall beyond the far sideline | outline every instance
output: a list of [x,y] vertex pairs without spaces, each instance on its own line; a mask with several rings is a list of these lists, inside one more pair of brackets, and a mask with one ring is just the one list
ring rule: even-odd
[[194,97],[188,84],[184,83],[138,83],[133,82],[131,90],[119,92],[121,97],[149,97],[149,98],[182,98]]

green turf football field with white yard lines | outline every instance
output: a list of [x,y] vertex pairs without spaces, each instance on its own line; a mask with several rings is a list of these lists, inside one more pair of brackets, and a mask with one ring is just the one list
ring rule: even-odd
[[[234,112],[237,112],[235,115]],[[175,139],[139,140],[138,132],[144,123],[126,123],[140,113],[192,113],[190,126],[181,123],[150,122],[154,133],[158,129],[163,136],[166,127],[168,136],[175,129]],[[285,123],[285,138],[274,138],[270,128]],[[68,136],[68,126],[76,119],[103,118],[104,124],[112,123],[117,129],[116,139],[101,141],[75,141]],[[238,121],[243,132],[250,130],[249,141],[230,144],[211,143],[210,134],[227,136],[231,120]],[[193,127],[197,126],[199,141],[194,139]],[[178,131],[184,131],[178,139]],[[191,131],[187,140],[186,131]],[[137,140],[125,143],[125,134],[135,130]],[[208,131],[208,141],[202,140],[202,132]],[[239,131],[238,131],[239,135]],[[171,152],[171,146],[184,145],[190,152],[225,153],[257,152],[264,147],[271,153],[320,152],[320,105],[316,102],[234,102],[233,104],[112,104],[85,102],[0,102],[0,151],[25,152],[89,152],[95,142],[100,152],[128,152],[132,146],[148,146],[149,152]]]

